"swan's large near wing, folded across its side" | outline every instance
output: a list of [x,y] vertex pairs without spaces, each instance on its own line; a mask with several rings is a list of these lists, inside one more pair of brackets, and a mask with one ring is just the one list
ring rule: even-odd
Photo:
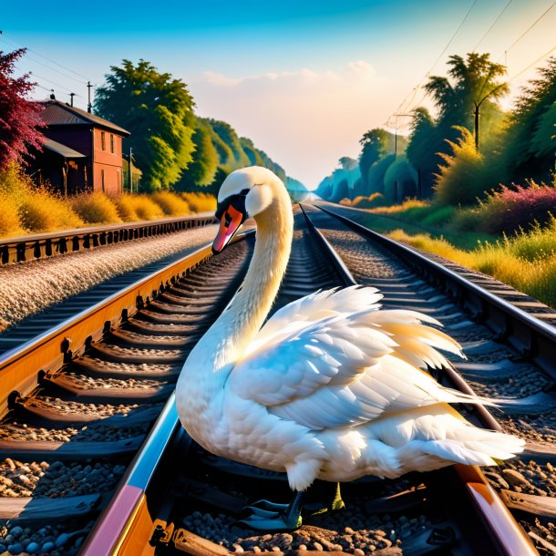
[[363,311],[308,324],[262,345],[232,370],[234,394],[311,428],[346,427],[386,412],[470,398],[417,367],[441,366],[435,347],[459,352],[448,335],[411,311]]

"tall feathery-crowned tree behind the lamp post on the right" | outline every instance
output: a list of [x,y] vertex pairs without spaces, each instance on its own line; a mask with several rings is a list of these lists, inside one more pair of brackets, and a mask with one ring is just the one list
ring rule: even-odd
[[474,130],[475,145],[479,148],[479,113],[482,107],[487,118],[499,117],[499,108],[493,100],[509,91],[508,85],[499,81],[506,74],[506,67],[490,61],[488,53],[471,52],[464,59],[448,58],[448,77],[431,76],[425,85],[438,108],[438,125],[448,131],[443,139],[452,139],[453,126]]

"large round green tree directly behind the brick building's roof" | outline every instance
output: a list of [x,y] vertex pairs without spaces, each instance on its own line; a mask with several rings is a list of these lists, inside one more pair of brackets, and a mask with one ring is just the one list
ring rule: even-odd
[[95,113],[130,131],[141,186],[168,189],[192,160],[195,116],[187,86],[142,59],[110,70],[97,89]]

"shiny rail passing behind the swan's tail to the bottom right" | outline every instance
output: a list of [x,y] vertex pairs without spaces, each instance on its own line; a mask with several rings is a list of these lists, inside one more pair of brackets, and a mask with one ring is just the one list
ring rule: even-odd
[[[322,209],[322,207],[319,208]],[[332,214],[334,217],[338,216],[332,211],[325,212]],[[316,228],[306,211],[304,211],[304,216],[318,238],[318,241],[321,242],[323,246],[328,246],[326,252],[331,262],[340,265],[345,285],[355,285],[356,282],[352,274],[345,267],[340,257],[335,253],[334,248],[324,238],[324,235]],[[347,219],[341,220],[345,221]],[[357,228],[356,231],[359,232],[359,228]],[[375,239],[375,232],[372,238]],[[466,394],[474,395],[473,390],[453,366],[450,365],[443,370],[456,388]],[[501,430],[499,423],[490,415],[485,407],[476,406],[476,411],[485,427]],[[533,547],[530,538],[525,531],[521,529],[518,522],[511,515],[510,510],[508,510],[501,499],[499,499],[496,490],[489,485],[489,481],[483,475],[480,468],[478,466],[464,466],[460,464],[455,465],[454,468],[456,468],[459,479],[464,483],[468,496],[481,516],[484,525],[489,530],[490,535],[496,540],[496,544],[499,547],[499,554],[507,556],[537,554],[538,552]]]

